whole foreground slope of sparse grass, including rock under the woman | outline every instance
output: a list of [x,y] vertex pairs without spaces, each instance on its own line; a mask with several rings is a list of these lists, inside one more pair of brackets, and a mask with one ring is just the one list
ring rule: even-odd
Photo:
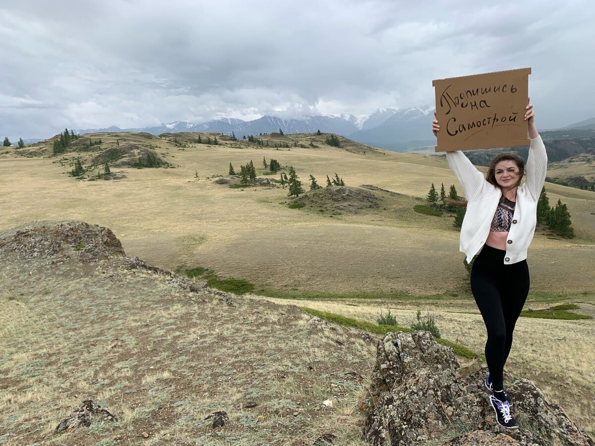
[[[0,272],[0,441],[594,444],[526,379],[509,389],[524,429],[501,432],[483,373],[461,376],[426,332],[389,333],[374,348],[369,334],[295,306],[128,257],[105,227],[0,233]],[[81,401],[113,416],[57,431]]]

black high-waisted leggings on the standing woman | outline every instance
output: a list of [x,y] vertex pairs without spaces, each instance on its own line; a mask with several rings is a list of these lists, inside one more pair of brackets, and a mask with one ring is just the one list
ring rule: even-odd
[[527,260],[505,265],[505,255],[506,251],[484,245],[471,269],[471,291],[486,323],[486,362],[493,390],[503,389],[512,332],[529,293]]

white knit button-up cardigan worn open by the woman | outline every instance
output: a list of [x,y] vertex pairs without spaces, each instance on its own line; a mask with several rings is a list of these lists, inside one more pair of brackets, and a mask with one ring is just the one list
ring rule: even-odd
[[[447,152],[450,169],[463,187],[468,201],[467,211],[461,227],[459,250],[471,262],[480,252],[490,233],[491,221],[498,206],[502,191],[488,183],[463,152]],[[531,139],[529,156],[525,166],[525,183],[516,191],[515,212],[511,230],[506,240],[505,265],[527,259],[527,248],[533,240],[537,224],[537,200],[546,180],[547,154],[541,136]]]

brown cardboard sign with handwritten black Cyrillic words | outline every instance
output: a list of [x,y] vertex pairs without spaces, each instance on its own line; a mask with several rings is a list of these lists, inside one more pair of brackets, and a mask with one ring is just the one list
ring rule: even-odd
[[432,81],[440,124],[436,152],[528,146],[531,68]]

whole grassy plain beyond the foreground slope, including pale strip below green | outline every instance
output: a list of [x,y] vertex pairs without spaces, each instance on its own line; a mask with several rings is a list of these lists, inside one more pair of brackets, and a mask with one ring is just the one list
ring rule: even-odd
[[[127,255],[159,268],[210,268],[220,277],[255,284],[255,299],[268,296],[362,321],[375,322],[381,309],[390,308],[400,325],[408,325],[418,308],[430,310],[444,337],[483,350],[483,323],[466,285],[452,216],[413,211],[424,204],[431,183],[455,184],[461,191],[445,159],[345,140],[341,148],[330,147],[324,135],[263,137],[270,145],[290,145],[278,150],[225,137],[218,146],[198,145],[196,134],[92,138],[101,138],[104,148],[117,140],[120,146],[150,144],[174,168],[112,168],[126,178],[77,181],[67,171],[80,153],[67,153],[61,165],[62,157],[49,156],[51,143],[27,146],[20,155],[11,148],[0,155],[0,231],[30,221],[99,224],[114,231]],[[306,148],[293,146],[296,140]],[[278,174],[261,175],[263,157],[293,165],[306,190],[308,175],[324,185],[325,175],[335,172],[347,186],[373,185],[380,188],[372,192],[381,206],[359,213],[290,209],[287,189],[215,183],[227,176],[230,162],[238,171],[250,160],[259,177],[273,181]],[[550,204],[561,199],[568,205],[577,238],[538,231],[529,254],[527,307],[577,303],[579,312],[594,315],[595,193],[549,183],[546,190]],[[594,321],[522,318],[517,327],[508,367],[527,374],[593,433]]]

